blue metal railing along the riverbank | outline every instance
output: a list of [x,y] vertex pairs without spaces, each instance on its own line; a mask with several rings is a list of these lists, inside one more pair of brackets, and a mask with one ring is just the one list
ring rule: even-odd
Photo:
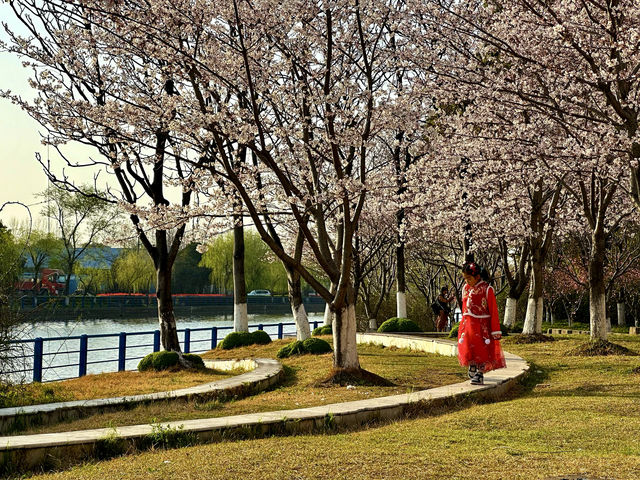
[[[318,321],[309,322],[312,328],[317,328],[319,323],[320,322]],[[291,332],[290,330],[285,332],[285,327],[291,326],[294,327],[293,332]],[[275,330],[273,333],[277,335],[277,338],[282,339],[285,333],[295,333],[295,323],[261,323],[257,325],[249,325],[249,329],[250,331],[252,329],[272,329]],[[233,330],[233,326],[185,328],[178,330],[178,333],[182,334],[182,351],[184,353],[199,353],[214,349],[218,345],[218,333],[221,330]],[[205,335],[202,335],[203,333]],[[149,336],[151,336],[152,338],[145,341],[144,337],[148,338]],[[135,343],[131,341],[140,337],[143,337],[141,343]],[[113,344],[116,342],[109,342],[107,345],[90,348],[91,340],[115,338],[118,339],[117,346],[113,346]],[[73,345],[77,345],[77,349],[75,347],[71,347],[70,350],[60,350],[61,346],[69,345],[69,342],[74,342]],[[75,342],[78,343],[76,344]],[[129,333],[101,333],[95,335],[84,334],[68,337],[37,337],[24,340],[12,340],[9,343],[12,344],[14,348],[18,347],[18,349],[22,351],[29,350],[32,347],[33,353],[14,355],[10,360],[12,360],[13,362],[22,362],[23,364],[25,364],[25,367],[3,373],[11,375],[23,375],[23,378],[25,379],[27,376],[30,376],[34,382],[48,382],[54,380],[68,380],[70,378],[82,377],[87,374],[87,367],[89,365],[117,363],[117,371],[122,372],[127,369],[127,362],[139,360],[151,351],[157,352],[160,350],[160,330],[148,330],[144,332]],[[51,348],[47,348],[47,346]],[[117,356],[105,357],[103,353],[114,351],[117,351]],[[77,358],[77,361],[67,360],[67,362],[62,364],[54,363],[56,357],[61,358],[65,355],[67,359],[69,358],[69,356],[72,356],[73,358]],[[49,359],[51,359],[51,361],[48,361]],[[44,379],[45,373],[63,370],[65,372],[63,373],[63,375],[69,375],[70,369],[77,369],[77,375],[58,375],[56,378]],[[113,371],[104,369],[100,370]]]

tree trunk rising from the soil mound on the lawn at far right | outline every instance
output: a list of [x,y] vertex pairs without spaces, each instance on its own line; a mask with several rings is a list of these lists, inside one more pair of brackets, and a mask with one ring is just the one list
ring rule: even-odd
[[604,281],[605,235],[596,229],[591,235],[589,258],[589,323],[592,340],[606,340],[607,310]]

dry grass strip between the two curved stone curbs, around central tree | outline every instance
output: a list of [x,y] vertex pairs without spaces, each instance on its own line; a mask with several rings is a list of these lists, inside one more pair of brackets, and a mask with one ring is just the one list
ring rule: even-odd
[[[276,352],[289,341],[277,340],[269,345],[214,350],[203,357],[275,358]],[[359,345],[358,353],[362,368],[390,380],[395,385],[357,386],[354,389],[344,386],[321,387],[317,383],[331,370],[331,354],[299,355],[283,359],[285,379],[280,386],[252,397],[232,399],[229,402],[159,402],[140,405],[126,412],[109,412],[69,423],[36,427],[20,433],[62,432],[305,408],[406,393],[456,383],[466,378],[457,359],[452,357],[373,345]]]

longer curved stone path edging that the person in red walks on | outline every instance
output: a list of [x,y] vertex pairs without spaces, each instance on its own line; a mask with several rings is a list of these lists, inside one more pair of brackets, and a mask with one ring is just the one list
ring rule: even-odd
[[[400,348],[454,356],[457,345],[450,340],[431,339],[411,335],[358,334],[359,343],[376,343]],[[507,368],[485,375],[485,385],[471,385],[468,381],[431,388],[418,392],[392,395],[318,407],[252,413],[230,417],[205,418],[161,424],[161,428],[190,435],[191,443],[213,442],[227,437],[259,437],[266,435],[308,433],[335,427],[358,426],[369,422],[403,418],[421,409],[468,397],[496,399],[515,386],[529,369],[520,357],[505,352]],[[24,435],[0,438],[0,471],[20,466],[33,469],[51,466],[51,459],[80,460],[101,456],[104,442],[119,446],[119,452],[144,448],[158,426],[133,425],[117,429],[95,429],[66,433]],[[113,451],[113,450],[111,450]],[[54,462],[55,465],[55,462]]]

